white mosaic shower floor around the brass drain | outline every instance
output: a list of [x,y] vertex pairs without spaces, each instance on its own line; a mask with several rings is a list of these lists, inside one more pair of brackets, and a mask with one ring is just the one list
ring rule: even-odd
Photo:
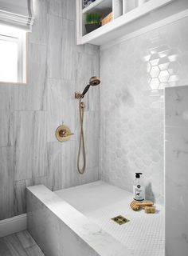
[[[56,194],[99,224],[136,256],[164,255],[162,206],[156,206],[157,214],[145,214],[143,210],[135,212],[129,206],[131,193],[101,181],[59,190]],[[122,226],[113,222],[111,218],[119,214],[130,222]]]

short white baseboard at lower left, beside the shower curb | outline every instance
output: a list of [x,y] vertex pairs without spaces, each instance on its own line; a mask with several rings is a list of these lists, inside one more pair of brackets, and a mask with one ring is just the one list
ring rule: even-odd
[[6,218],[0,221],[0,238],[27,229],[27,214]]

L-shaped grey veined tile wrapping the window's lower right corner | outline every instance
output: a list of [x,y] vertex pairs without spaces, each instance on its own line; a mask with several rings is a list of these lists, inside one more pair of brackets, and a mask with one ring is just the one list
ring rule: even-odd
[[47,48],[29,43],[27,85],[15,86],[15,110],[46,110]]

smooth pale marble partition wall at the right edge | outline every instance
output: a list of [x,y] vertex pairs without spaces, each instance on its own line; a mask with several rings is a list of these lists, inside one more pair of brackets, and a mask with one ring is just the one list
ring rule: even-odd
[[188,86],[166,88],[166,256],[188,251]]

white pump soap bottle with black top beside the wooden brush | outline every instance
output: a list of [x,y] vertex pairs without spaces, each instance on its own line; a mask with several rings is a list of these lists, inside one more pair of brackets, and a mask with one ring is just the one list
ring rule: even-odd
[[136,201],[143,201],[145,199],[145,188],[140,175],[142,173],[135,173],[135,183],[133,185],[133,198]]

